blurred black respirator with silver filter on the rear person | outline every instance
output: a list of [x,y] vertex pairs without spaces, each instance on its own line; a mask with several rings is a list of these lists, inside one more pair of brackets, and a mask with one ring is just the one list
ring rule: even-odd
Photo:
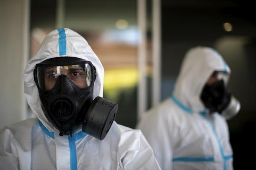
[[217,80],[208,85],[206,84],[201,93],[201,101],[204,106],[209,109],[210,113],[218,112],[226,119],[235,116],[240,110],[240,102],[227,90],[224,72],[214,72],[212,76],[216,76]]

